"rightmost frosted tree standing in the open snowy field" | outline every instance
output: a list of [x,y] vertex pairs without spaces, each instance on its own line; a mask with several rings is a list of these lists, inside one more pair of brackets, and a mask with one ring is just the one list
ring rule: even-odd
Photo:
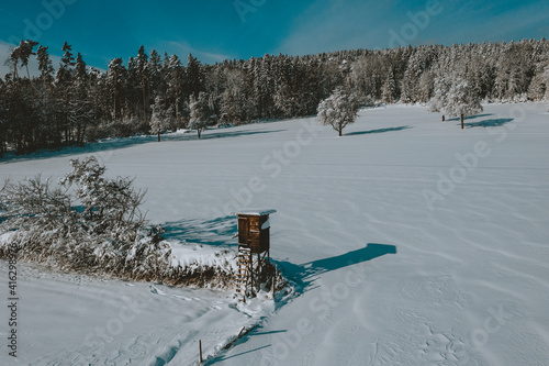
[[442,114],[460,117],[463,129],[463,117],[482,112],[482,106],[473,88],[463,79],[457,79],[448,92],[446,103],[441,108]]

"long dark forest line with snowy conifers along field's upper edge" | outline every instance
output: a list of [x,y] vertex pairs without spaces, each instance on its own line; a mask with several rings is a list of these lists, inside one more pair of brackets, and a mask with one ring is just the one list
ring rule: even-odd
[[[192,55],[147,54],[142,46],[107,70],[88,67],[65,43],[57,68],[48,47],[21,41],[0,78],[0,155],[59,148],[104,137],[158,134],[208,124],[316,114],[336,88],[362,106],[427,103],[452,85],[490,101],[542,100],[549,93],[549,42],[429,45],[304,56],[265,55],[202,64]],[[37,63],[38,76],[29,64]],[[442,95],[440,95],[442,92]]]

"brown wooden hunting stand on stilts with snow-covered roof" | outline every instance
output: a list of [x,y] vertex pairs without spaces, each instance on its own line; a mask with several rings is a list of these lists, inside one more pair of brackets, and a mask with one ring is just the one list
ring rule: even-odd
[[244,209],[238,217],[238,287],[237,292],[254,295],[260,289],[262,273],[269,262],[269,214],[276,210]]

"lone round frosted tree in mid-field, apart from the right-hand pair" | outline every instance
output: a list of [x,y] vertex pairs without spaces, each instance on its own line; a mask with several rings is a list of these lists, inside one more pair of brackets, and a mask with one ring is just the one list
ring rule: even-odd
[[358,97],[340,87],[318,104],[318,122],[330,125],[341,136],[343,129],[354,123],[359,109]]

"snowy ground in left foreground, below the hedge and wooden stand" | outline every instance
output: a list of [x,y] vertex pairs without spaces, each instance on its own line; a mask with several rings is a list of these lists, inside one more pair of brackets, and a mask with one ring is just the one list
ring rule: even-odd
[[234,310],[228,293],[19,269],[18,362],[2,352],[2,365],[189,365],[199,339],[203,356],[213,356],[256,322]]

